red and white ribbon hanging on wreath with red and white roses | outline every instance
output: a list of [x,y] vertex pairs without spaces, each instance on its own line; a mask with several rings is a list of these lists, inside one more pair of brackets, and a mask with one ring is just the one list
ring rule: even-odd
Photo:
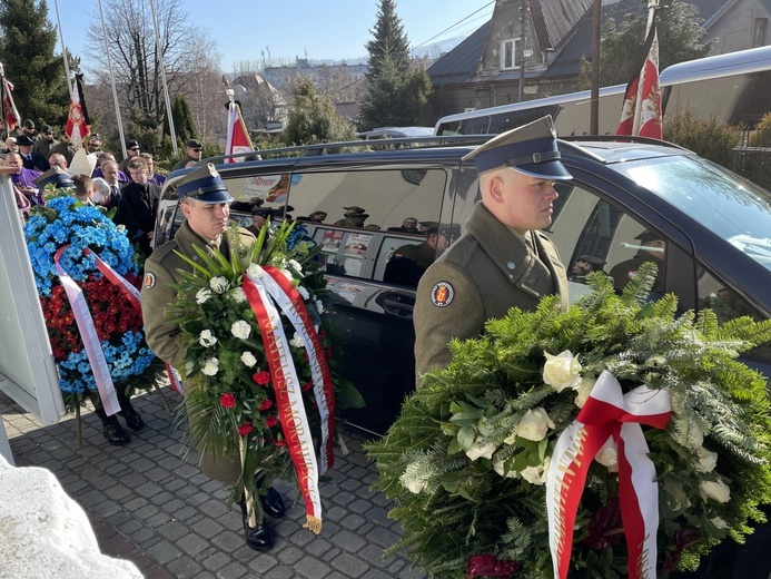
[[[265,355],[276,393],[278,416],[289,455],[297,472],[300,492],[305,499],[307,523],[314,532],[322,528],[322,500],[318,478],[333,463],[332,430],[334,420],[334,394],[332,379],[318,335],[297,290],[284,274],[271,266],[263,269],[261,277],[244,275],[244,293],[251,305],[260,328]],[[303,338],[312,369],[314,395],[322,416],[322,465],[316,462],[309,422],[303,404],[300,383],[284,332],[278,306]]]

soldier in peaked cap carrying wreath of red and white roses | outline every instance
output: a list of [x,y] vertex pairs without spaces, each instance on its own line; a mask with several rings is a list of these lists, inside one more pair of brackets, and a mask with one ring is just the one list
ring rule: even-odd
[[[141,305],[147,343],[152,352],[172,366],[184,367],[186,351],[177,341],[180,333],[179,325],[170,323],[164,316],[164,311],[177,296],[177,292],[170,284],[180,281],[180,269],[188,272],[191,269],[177,253],[190,259],[197,259],[194,247],[198,247],[210,257],[214,257],[214,251],[218,249],[229,258],[233,248],[224,233],[228,226],[229,203],[233,197],[211,164],[189,173],[178,185],[177,194],[186,220],[179,227],[175,238],[156,249],[145,263]],[[249,249],[254,247],[254,235],[244,228],[240,228],[240,241],[245,247]],[[187,384],[184,386],[188,387]],[[229,485],[236,484],[240,473],[238,460],[217,457],[202,449],[198,451],[201,470],[207,477]],[[274,489],[260,499],[267,514],[284,516],[284,503]],[[249,527],[243,501],[240,504],[246,543],[258,551],[270,549],[274,542],[273,529],[267,521],[257,527]]]

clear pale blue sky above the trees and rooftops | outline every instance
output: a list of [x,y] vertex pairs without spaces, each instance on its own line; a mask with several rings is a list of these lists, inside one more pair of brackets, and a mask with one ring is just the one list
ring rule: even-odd
[[[55,0],[47,0],[56,26]],[[146,1],[146,0],[127,0]],[[67,47],[85,55],[85,16],[98,14],[98,0],[58,0]],[[366,57],[378,0],[181,0],[190,20],[218,43],[220,66],[261,60],[269,47],[274,61]],[[397,0],[396,11],[409,42],[432,43],[467,36],[493,13],[494,0]],[[77,8],[73,9],[73,7]],[[60,45],[57,46],[57,52]]]

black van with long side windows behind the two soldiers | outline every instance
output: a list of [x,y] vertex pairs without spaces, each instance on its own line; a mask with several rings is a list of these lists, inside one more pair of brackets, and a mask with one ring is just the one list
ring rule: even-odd
[[[325,223],[304,225],[322,246],[329,287],[339,298],[335,315],[348,333],[345,372],[367,402],[346,418],[364,431],[385,433],[415,387],[415,287],[388,284],[384,273],[395,248],[425,236],[389,228],[415,217],[465,233],[478,187],[473,160],[462,158],[487,138],[326,144],[259,151],[263,160],[210,159],[237,200],[263,199],[263,207],[286,218],[327,214]],[[666,243],[665,288],[683,310],[713,306],[729,295],[726,317],[730,312],[771,316],[771,194],[682,148],[617,139],[560,141],[574,178],[556,185],[560,198],[546,233],[569,272],[587,256],[610,272],[636,253],[641,233],[654,232]],[[171,238],[182,219],[175,189],[188,170],[166,181],[158,244]],[[362,227],[335,225],[346,207],[364,209]],[[247,213],[230,215],[250,224]],[[571,277],[575,300],[586,285],[581,275]],[[758,349],[747,361],[771,376],[771,349]]]

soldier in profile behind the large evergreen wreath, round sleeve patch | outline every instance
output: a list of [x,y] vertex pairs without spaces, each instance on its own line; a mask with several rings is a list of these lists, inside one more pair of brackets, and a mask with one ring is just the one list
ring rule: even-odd
[[537,229],[552,223],[555,179],[572,176],[560,161],[551,117],[510,130],[464,157],[476,160],[482,200],[466,235],[426,271],[414,311],[417,384],[451,362],[454,337],[477,337],[487,320],[510,308],[535,310],[559,294],[567,306],[565,267]]

